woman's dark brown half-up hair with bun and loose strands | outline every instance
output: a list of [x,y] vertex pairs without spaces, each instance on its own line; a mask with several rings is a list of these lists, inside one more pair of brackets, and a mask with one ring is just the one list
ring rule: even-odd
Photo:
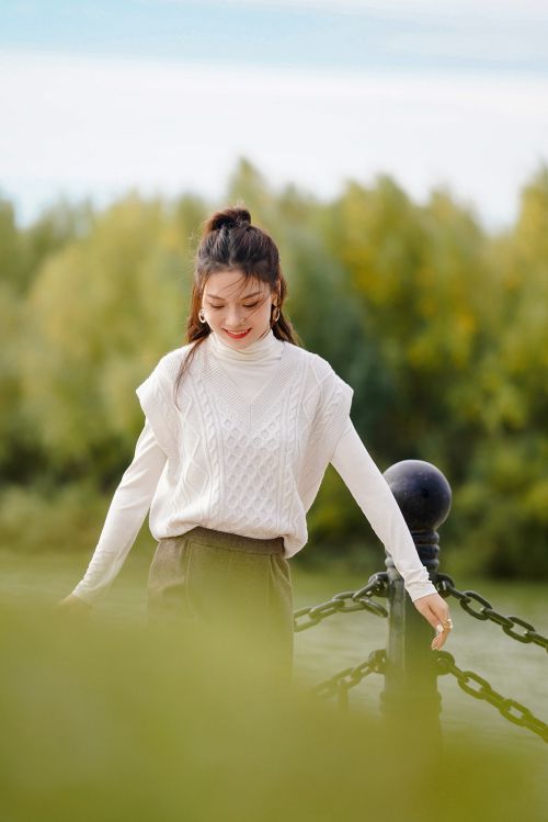
[[[175,405],[181,381],[199,345],[212,333],[207,323],[202,323],[198,312],[207,279],[218,271],[240,271],[242,290],[251,279],[261,280],[277,294],[279,316],[271,318],[271,328],[277,339],[301,346],[289,319],[284,316],[283,304],[287,295],[287,283],[279,264],[279,252],[272,237],[258,226],[251,225],[249,211],[238,203],[216,211],[203,223],[202,237],[194,259],[194,282],[191,294],[186,344],[194,342],[179,369],[175,385]],[[179,407],[179,406],[178,406]]]

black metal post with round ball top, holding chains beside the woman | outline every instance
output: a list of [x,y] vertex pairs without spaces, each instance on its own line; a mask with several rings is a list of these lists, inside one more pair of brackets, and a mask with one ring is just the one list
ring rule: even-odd
[[[430,578],[436,582],[438,534],[436,528],[450,510],[450,486],[442,472],[430,462],[402,460],[385,471],[384,476],[403,514],[421,562]],[[432,627],[416,610],[406,593],[403,579],[387,553],[388,643],[385,688],[380,708],[387,719],[396,719],[421,736],[429,734],[441,744],[439,711]]]

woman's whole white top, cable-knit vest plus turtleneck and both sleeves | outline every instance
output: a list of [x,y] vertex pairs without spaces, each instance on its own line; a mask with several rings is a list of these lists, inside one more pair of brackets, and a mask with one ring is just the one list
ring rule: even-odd
[[413,600],[435,593],[396,499],[350,418],[353,389],[316,353],[272,330],[246,349],[217,334],[196,349],[173,403],[181,357],[162,357],[136,393],[145,426],[84,577],[92,604],[118,574],[150,509],[155,539],[197,525],[304,548],[306,514],[331,462],[390,553]]

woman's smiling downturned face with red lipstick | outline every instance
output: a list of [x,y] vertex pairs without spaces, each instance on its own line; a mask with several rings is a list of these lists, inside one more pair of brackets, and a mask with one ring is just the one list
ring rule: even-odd
[[[247,348],[270,331],[272,305],[277,303],[267,283],[251,278],[243,284],[242,278],[241,271],[210,274],[202,296],[212,331],[236,349]],[[242,331],[247,334],[241,336]]]

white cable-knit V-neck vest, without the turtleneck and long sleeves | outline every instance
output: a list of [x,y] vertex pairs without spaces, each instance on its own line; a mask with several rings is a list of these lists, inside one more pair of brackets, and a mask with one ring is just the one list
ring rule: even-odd
[[149,513],[160,540],[197,525],[266,539],[285,556],[307,542],[306,514],[345,430],[353,389],[319,354],[284,342],[271,379],[244,397],[206,339],[174,404],[191,342],[164,354],[136,393],[168,460]]

